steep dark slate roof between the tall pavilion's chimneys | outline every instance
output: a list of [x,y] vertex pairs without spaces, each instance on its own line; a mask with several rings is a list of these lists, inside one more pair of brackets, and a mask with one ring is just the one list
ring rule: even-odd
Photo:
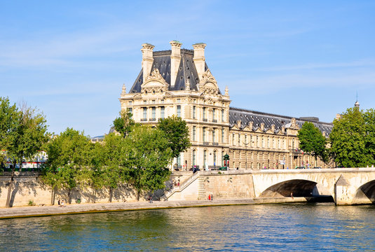
[[[171,86],[170,83],[170,55],[172,50],[162,50],[153,52],[154,62],[152,63],[151,73],[154,69],[158,69],[161,76],[169,85],[169,90],[185,90],[185,83],[189,79],[190,89],[198,91],[198,73],[196,66],[193,62],[194,51],[188,49],[181,49],[181,60],[179,62],[179,70],[177,72],[177,78],[175,85]],[[208,66],[205,64],[205,71]],[[135,83],[132,85],[129,93],[141,92],[141,85],[143,83],[143,69],[138,74]]]

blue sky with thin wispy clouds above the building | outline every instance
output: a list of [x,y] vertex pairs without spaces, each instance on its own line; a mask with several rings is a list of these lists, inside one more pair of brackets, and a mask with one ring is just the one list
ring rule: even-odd
[[375,108],[375,1],[0,1],[0,96],[50,132],[102,135],[141,69],[142,43],[207,44],[231,106],[331,122]]

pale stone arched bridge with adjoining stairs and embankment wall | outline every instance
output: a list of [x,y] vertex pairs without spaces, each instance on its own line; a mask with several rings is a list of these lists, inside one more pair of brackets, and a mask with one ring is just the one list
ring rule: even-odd
[[[168,200],[331,199],[337,205],[375,204],[375,168],[202,171],[166,194]],[[278,202],[275,200],[275,202]]]

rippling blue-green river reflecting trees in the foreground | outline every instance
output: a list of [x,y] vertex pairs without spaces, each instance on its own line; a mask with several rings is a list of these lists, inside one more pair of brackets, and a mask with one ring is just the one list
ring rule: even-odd
[[252,204],[0,221],[1,251],[374,251],[375,206]]

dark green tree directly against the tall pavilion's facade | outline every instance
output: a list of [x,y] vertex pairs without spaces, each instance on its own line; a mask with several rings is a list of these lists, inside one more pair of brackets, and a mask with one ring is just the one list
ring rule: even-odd
[[165,132],[168,139],[173,158],[177,158],[179,153],[186,151],[191,146],[189,140],[189,127],[186,122],[178,116],[170,116],[159,120],[158,129]]

